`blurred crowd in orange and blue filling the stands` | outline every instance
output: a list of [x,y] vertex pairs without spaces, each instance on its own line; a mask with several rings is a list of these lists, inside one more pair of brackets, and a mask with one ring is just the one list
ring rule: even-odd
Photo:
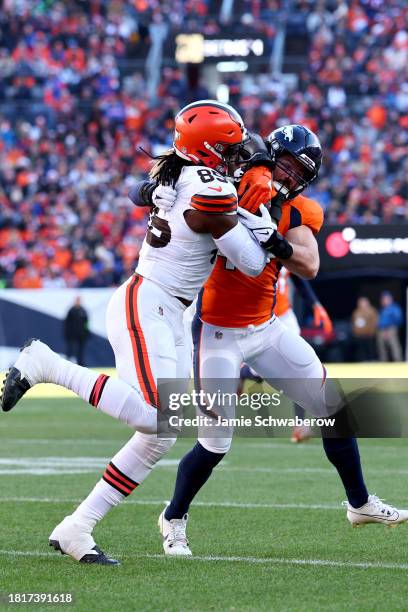
[[[239,5],[239,6],[238,6]],[[404,0],[4,0],[0,8],[0,282],[105,286],[135,265],[146,211],[127,192],[171,144],[184,104],[214,95],[165,65],[158,103],[143,65],[154,26],[273,39],[289,14],[309,36],[296,86],[227,76],[230,103],[267,135],[305,123],[325,148],[309,190],[339,223],[408,221],[408,6]],[[218,11],[218,12],[217,12]],[[238,15],[238,17],[237,17]],[[287,31],[290,32],[288,21]]]

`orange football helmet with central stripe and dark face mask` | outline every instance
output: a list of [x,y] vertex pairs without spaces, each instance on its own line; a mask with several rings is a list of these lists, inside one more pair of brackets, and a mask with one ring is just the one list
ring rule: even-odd
[[246,134],[236,110],[216,100],[185,106],[175,119],[173,147],[177,155],[225,174]]

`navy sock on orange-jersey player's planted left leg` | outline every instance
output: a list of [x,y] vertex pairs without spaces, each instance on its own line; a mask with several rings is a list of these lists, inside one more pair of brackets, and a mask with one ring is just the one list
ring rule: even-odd
[[173,499],[164,514],[168,521],[182,518],[188,512],[194,497],[224,455],[206,450],[199,442],[184,455],[178,466]]

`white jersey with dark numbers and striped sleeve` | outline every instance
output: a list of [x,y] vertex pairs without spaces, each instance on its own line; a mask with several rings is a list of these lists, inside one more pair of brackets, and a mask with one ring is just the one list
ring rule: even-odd
[[225,177],[204,166],[185,166],[176,189],[171,210],[151,212],[136,272],[173,296],[193,300],[211,273],[217,248],[210,234],[188,227],[184,212],[235,214],[237,192]]

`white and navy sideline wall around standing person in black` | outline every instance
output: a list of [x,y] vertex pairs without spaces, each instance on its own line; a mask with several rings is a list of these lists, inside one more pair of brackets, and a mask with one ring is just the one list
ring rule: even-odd
[[0,370],[7,369],[29,338],[43,340],[65,354],[64,320],[76,298],[88,314],[85,365],[113,366],[105,315],[115,289],[1,289]]

